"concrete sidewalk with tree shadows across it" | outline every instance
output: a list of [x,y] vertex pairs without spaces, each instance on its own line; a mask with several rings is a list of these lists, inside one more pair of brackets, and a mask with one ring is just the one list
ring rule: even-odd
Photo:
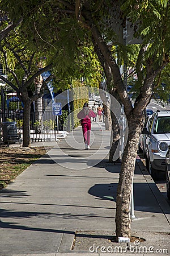
[[[108,163],[109,138],[103,123],[92,122],[91,149],[84,150],[78,127],[56,143],[50,157],[44,155],[0,191],[1,256],[111,255],[100,253],[96,246],[125,246],[108,239],[115,235],[121,167]],[[170,207],[140,160],[134,175],[134,214],[131,235],[145,238],[141,246],[168,255],[163,249],[170,252]],[[89,248],[94,244],[92,254]],[[129,254],[137,251],[121,255]]]

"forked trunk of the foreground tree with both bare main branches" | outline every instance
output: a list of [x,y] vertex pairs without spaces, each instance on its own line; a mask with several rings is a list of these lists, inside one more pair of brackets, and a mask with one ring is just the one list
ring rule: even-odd
[[[84,8],[82,9],[82,15],[86,20],[86,25],[90,27],[91,33],[94,38],[94,46],[97,45],[97,52],[100,49],[101,55],[105,63],[111,68],[113,76],[113,84],[117,89],[117,92],[124,104],[124,111],[126,118],[128,119],[129,135],[128,142],[124,150],[122,158],[122,168],[120,173],[120,180],[118,183],[117,190],[117,207],[116,207],[116,236],[117,237],[130,237],[130,195],[131,195],[131,184],[133,181],[133,174],[135,170],[135,159],[137,156],[139,135],[143,127],[143,112],[150,101],[153,90],[153,83],[156,75],[162,69],[152,66],[154,61],[148,59],[145,63],[146,76],[141,81],[141,92],[135,100],[134,108],[131,104],[130,97],[122,81],[120,69],[117,65],[116,59],[112,56],[112,52],[109,46],[104,42],[103,36],[98,30],[95,20],[92,18],[91,8],[89,1],[84,1]],[[143,46],[138,55],[138,60],[145,58],[145,52],[147,46]],[[154,56],[153,56],[154,59]],[[140,61],[141,64],[143,64]],[[102,64],[102,63],[101,63]],[[139,73],[139,72],[138,72]],[[139,75],[139,74],[138,74]]]

